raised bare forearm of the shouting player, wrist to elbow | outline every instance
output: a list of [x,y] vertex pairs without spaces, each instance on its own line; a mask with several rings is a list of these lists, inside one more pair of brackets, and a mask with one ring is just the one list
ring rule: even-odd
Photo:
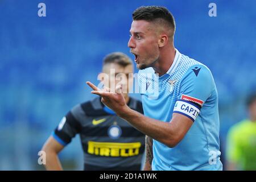
[[120,109],[117,114],[145,135],[148,135],[169,147],[174,147],[176,145],[176,129],[172,123],[145,117],[141,113],[130,109],[128,106]]

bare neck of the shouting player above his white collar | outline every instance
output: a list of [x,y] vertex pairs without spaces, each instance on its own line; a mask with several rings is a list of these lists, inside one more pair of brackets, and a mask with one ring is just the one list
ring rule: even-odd
[[158,61],[155,62],[152,68],[155,70],[155,73],[162,76],[168,71],[168,69],[170,69],[172,63],[174,63],[176,51],[174,46],[171,45],[163,47],[160,51]]

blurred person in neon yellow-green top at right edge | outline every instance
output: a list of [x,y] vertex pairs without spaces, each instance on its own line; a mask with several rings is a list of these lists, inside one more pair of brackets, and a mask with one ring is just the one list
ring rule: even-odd
[[228,170],[256,170],[256,93],[247,100],[249,118],[228,132]]

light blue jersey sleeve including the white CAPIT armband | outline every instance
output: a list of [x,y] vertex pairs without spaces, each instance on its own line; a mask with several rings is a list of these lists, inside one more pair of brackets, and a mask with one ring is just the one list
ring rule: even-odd
[[192,66],[181,79],[174,113],[183,114],[194,122],[213,89],[214,80],[209,69],[205,65]]

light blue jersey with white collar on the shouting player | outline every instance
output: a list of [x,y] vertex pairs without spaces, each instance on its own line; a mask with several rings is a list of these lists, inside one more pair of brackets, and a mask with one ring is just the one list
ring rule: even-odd
[[144,115],[170,122],[180,113],[193,121],[173,148],[154,140],[152,170],[222,170],[218,94],[210,70],[176,49],[166,74],[158,77],[146,68],[138,79]]

